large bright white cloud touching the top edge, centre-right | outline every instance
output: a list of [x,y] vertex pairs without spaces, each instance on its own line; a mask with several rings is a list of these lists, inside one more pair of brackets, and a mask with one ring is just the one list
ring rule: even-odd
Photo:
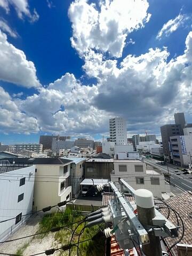
[[126,37],[149,21],[147,0],[100,1],[97,8],[86,0],[76,0],[69,7],[72,22],[72,46],[83,56],[94,49],[121,57]]

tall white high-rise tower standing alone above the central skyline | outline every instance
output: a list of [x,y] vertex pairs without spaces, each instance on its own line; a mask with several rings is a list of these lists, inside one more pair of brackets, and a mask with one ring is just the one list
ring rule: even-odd
[[127,145],[126,121],[122,117],[109,119],[110,141],[116,145]]

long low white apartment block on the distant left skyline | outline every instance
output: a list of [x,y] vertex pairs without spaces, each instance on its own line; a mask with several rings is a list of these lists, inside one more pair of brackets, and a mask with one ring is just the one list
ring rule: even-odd
[[43,151],[43,145],[42,144],[15,144],[15,145],[8,146],[9,152],[17,152],[21,150],[31,150],[37,153],[41,153]]

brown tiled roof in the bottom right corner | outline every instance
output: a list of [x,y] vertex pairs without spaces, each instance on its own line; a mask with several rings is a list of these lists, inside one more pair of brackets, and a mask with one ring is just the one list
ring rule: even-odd
[[[177,211],[184,222],[185,235],[179,243],[180,244],[187,243],[191,245],[192,244],[192,193],[190,191],[186,191],[180,195],[167,199],[165,203],[171,206],[175,211]],[[162,209],[161,213],[165,215],[165,217],[167,217],[167,209]],[[177,226],[177,219],[175,218],[175,215],[171,210],[170,210],[169,220],[173,222],[175,226]],[[179,229],[179,237],[177,238],[168,237],[165,239],[168,246],[171,246],[174,242],[178,241],[178,239],[181,237],[181,233],[182,233],[181,221],[179,221],[179,225],[181,226]],[[172,253],[173,255],[178,255],[177,246],[173,247]]]

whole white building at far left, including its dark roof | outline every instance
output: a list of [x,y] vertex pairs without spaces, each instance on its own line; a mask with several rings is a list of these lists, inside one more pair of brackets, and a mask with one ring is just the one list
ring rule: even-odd
[[[0,242],[14,233],[30,217],[33,207],[35,166],[13,159],[0,161]],[[9,161],[9,162],[8,162]],[[28,214],[26,216],[22,216]]]

